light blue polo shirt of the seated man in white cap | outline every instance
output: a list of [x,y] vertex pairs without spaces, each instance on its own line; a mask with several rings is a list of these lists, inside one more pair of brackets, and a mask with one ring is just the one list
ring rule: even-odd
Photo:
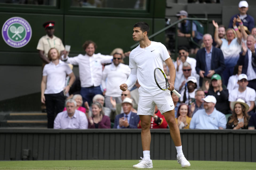
[[226,116],[214,108],[211,114],[207,114],[205,109],[200,109],[193,114],[190,121],[190,129],[226,129]]

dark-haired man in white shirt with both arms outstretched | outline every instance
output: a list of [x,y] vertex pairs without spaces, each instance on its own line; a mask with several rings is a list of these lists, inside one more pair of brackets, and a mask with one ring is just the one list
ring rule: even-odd
[[94,54],[97,45],[91,40],[85,41],[83,48],[86,52],[85,55],[79,54],[75,57],[68,57],[68,52],[64,51],[62,60],[66,63],[78,65],[81,81],[80,94],[83,97],[83,104],[87,101],[90,105],[95,95],[102,95],[100,88],[102,81],[102,64],[111,63],[113,56],[102,55],[101,53]]

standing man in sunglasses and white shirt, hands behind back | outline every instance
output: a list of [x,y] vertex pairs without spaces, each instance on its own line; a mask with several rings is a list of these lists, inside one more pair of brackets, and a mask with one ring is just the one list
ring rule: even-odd
[[110,102],[110,97],[112,97],[112,99],[115,100],[117,104],[122,103],[122,90],[120,90],[119,84],[125,82],[131,73],[129,66],[121,62],[122,54],[114,53],[112,63],[105,66],[102,72],[103,81],[101,85],[104,89],[103,95],[105,95],[105,106],[112,110],[113,106]]

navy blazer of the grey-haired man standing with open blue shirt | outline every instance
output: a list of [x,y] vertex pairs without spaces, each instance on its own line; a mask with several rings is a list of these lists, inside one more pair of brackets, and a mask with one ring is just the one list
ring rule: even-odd
[[[205,71],[206,70],[206,62],[205,62],[205,48],[201,48],[198,50],[196,55],[197,60],[197,66],[195,67],[195,70],[197,70],[197,74],[199,74],[200,70]],[[222,76],[222,72],[225,69],[225,62],[224,62],[224,56],[221,51],[221,49],[215,48],[213,46],[213,51],[211,54],[211,70],[215,71],[215,74],[219,74]],[[199,86],[202,86],[202,80],[203,78],[200,77],[199,79]]]

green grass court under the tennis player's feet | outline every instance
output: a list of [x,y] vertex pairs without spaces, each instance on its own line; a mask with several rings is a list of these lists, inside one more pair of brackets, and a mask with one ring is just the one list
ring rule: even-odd
[[[8,170],[126,170],[137,164],[138,160],[53,160],[53,161],[0,161],[0,169]],[[253,170],[254,162],[224,162],[224,161],[190,161],[189,168],[182,168],[176,160],[153,160],[153,167],[158,170]]]

